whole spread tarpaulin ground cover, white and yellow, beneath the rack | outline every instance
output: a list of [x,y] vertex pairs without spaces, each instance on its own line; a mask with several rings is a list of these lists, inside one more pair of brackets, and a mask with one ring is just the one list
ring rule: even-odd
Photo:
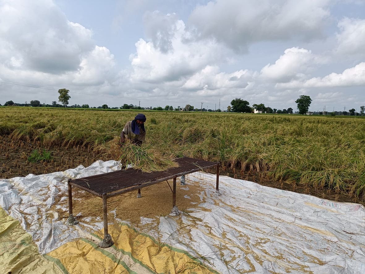
[[[0,179],[0,272],[365,273],[363,206],[226,176],[220,176],[223,195],[216,197],[215,175],[203,172],[188,175],[187,185],[177,189],[199,202],[180,208],[177,217],[141,216],[147,225],[139,230],[115,216],[109,226],[115,244],[101,249],[100,218],[80,212],[80,223],[69,227],[59,212],[67,214],[68,178],[117,169],[115,161],[97,161]],[[112,205],[108,212],[115,213]],[[150,229],[155,220],[157,229]]]

